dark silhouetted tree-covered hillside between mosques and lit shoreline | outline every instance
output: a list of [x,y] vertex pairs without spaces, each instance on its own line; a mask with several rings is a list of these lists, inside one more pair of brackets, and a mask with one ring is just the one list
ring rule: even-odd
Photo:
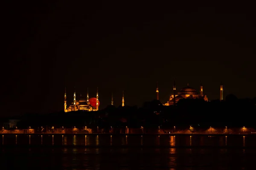
[[176,106],[164,106],[158,100],[145,102],[143,107],[108,106],[95,111],[60,111],[50,114],[26,114],[19,128],[51,127],[256,127],[256,98],[237,99],[228,95],[225,101],[181,99]]

